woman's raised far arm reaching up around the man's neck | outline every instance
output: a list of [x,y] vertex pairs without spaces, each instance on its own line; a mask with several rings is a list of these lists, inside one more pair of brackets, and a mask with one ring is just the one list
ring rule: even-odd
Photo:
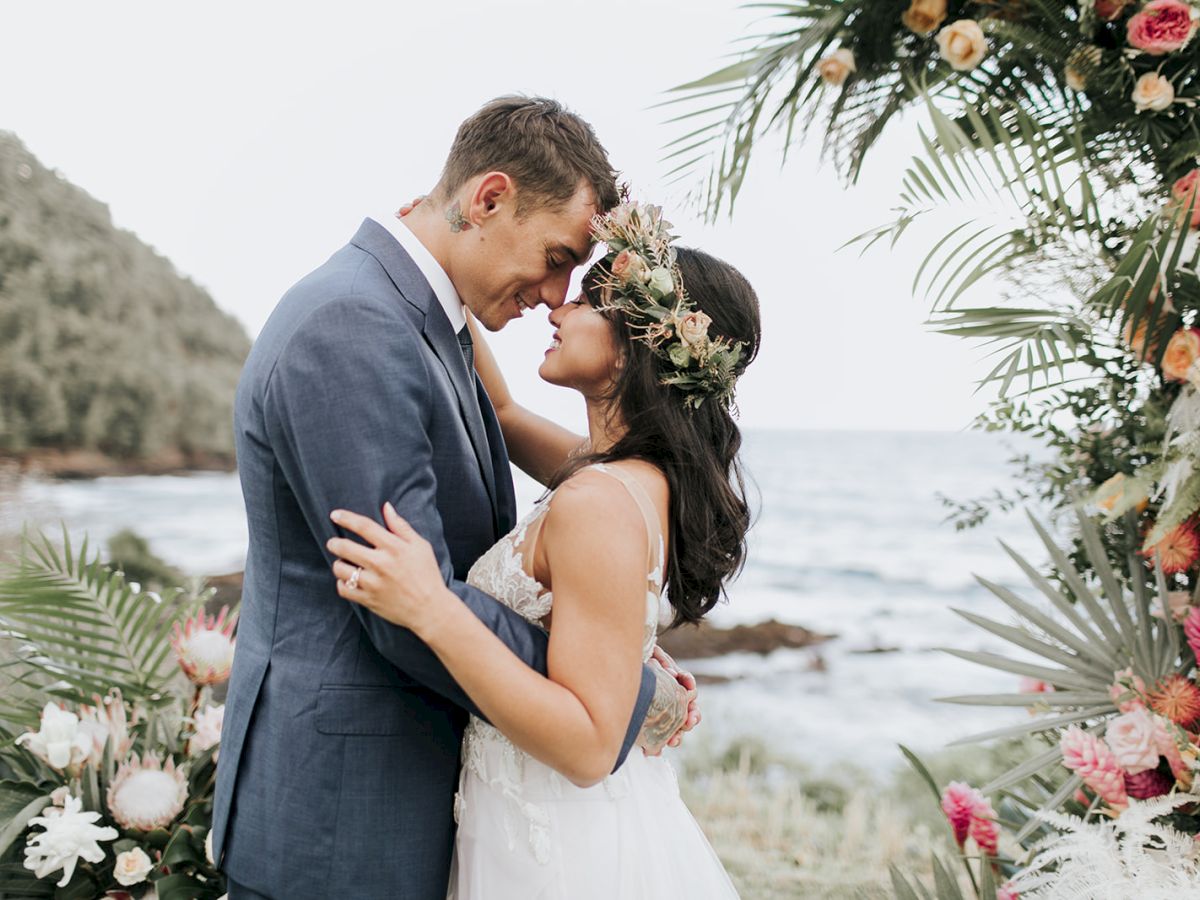
[[496,408],[509,457],[522,472],[548,485],[551,476],[580,449],[586,438],[514,401],[492,348],[487,346],[473,316],[467,316],[467,324],[475,342],[475,371]]

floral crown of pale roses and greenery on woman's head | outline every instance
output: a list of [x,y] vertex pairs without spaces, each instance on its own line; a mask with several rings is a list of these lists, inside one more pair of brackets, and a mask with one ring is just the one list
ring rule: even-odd
[[662,209],[622,203],[592,220],[592,234],[608,245],[604,264],[589,272],[599,308],[625,317],[632,338],[665,364],[661,383],[683,391],[688,407],[697,408],[707,397],[728,403],[745,343],[708,336],[713,320],[684,289]]

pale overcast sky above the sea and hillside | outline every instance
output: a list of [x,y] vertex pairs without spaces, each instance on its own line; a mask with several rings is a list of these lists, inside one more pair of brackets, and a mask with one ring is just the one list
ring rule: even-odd
[[[752,163],[732,221],[702,224],[684,188],[665,185],[660,149],[682,132],[652,107],[722,65],[761,16],[736,0],[13,4],[0,128],[253,335],[365,216],[433,185],[482,102],[552,96],[594,125],[684,242],[755,284],[764,340],[739,388],[745,426],[965,427],[983,409],[973,382],[988,366],[922,324],[910,283],[928,235],[892,254],[835,252],[892,217],[918,116],[893,127],[850,190],[816,146],[781,169],[778,144]],[[520,400],[580,426],[574,395],[536,379],[550,331],[541,310],[493,347]]]

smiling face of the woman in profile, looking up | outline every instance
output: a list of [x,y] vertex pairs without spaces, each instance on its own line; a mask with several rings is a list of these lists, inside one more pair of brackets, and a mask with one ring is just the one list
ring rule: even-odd
[[554,335],[538,370],[545,380],[574,388],[586,397],[604,396],[620,366],[620,350],[608,320],[587,294],[550,313]]

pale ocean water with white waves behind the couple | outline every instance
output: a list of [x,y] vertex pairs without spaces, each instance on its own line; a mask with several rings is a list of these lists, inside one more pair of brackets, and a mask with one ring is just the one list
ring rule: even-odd
[[[1040,564],[1024,511],[956,532],[938,494],[973,499],[1012,488],[1013,438],[983,433],[748,432],[744,463],[757,518],[744,572],[714,624],[768,618],[836,638],[767,656],[732,654],[691,665],[728,682],[706,685],[694,746],[751,738],[815,769],[900,764],[898,743],[931,751],[1020,721],[1021,709],[952,706],[937,696],[1007,692],[1016,677],[938,652],[1003,649],[955,616],[1009,622],[976,575],[1014,587],[1024,577],[998,545]],[[520,475],[523,509],[540,486]],[[240,570],[246,526],[235,475],[22,480],[0,504],[0,532],[23,520],[103,544],[121,528],[194,575]]]

